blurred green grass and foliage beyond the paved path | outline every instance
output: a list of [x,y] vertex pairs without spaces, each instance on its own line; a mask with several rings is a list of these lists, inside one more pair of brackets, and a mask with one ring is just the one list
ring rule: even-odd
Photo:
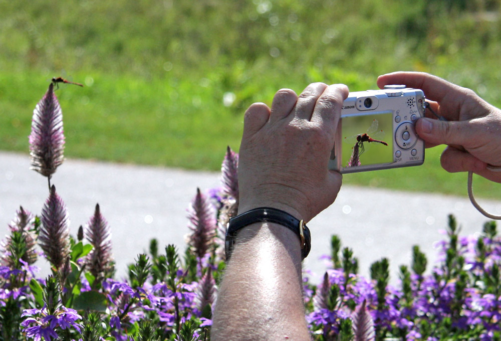
[[[0,149],[28,152],[54,76],[67,157],[219,169],[242,116],[279,88],[376,88],[425,71],[501,105],[501,0],[0,0]],[[419,167],[346,175],[352,185],[466,195],[466,175]],[[475,194],[501,191],[475,179]]]

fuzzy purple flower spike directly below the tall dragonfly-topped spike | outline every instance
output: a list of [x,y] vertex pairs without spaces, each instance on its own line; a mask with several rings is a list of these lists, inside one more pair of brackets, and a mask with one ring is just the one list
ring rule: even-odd
[[70,254],[70,230],[66,205],[52,186],[42,209],[39,244],[49,261],[59,269]]

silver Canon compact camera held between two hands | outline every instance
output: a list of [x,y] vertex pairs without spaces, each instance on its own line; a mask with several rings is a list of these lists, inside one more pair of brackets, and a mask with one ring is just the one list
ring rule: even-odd
[[329,169],[341,173],[417,166],[424,141],[414,124],[424,117],[424,93],[405,85],[350,92],[343,102]]

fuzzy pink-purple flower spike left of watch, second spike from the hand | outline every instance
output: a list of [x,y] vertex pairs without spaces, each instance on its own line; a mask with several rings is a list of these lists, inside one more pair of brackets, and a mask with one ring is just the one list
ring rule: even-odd
[[196,189],[196,196],[188,209],[188,218],[188,227],[192,231],[188,245],[201,259],[214,244],[216,219],[212,204],[209,199],[200,193],[198,188]]

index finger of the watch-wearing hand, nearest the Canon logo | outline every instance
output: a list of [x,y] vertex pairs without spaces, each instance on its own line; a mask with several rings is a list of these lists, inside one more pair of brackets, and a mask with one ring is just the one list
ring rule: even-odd
[[343,101],[348,97],[348,87],[344,84],[328,86],[315,104],[312,122],[326,124],[331,129],[336,129]]

